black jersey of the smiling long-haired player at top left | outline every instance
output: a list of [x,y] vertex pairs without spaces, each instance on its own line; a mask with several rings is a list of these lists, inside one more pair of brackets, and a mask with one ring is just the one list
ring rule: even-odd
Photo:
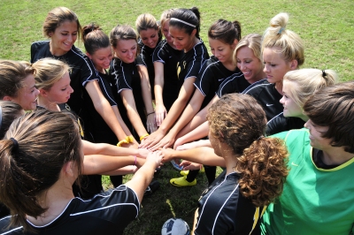
[[[91,125],[92,120],[89,117],[85,103],[86,101],[84,101],[83,96],[87,93],[84,88],[86,84],[91,80],[98,80],[94,64],[91,62],[89,57],[84,55],[81,50],[75,46],[65,53],[65,55],[55,57],[50,53],[50,41],[39,41],[32,43],[31,63],[35,63],[35,61],[45,57],[52,57],[61,60],[66,64],[69,64],[72,68],[69,75],[71,79],[70,86],[73,87],[73,94],[67,103],[70,105],[71,109],[83,119],[85,131],[89,131],[88,127]],[[89,134],[85,134],[85,136],[89,137]]]

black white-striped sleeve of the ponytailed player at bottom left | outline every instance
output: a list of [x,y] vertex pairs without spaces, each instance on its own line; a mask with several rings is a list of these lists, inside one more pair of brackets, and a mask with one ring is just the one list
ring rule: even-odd
[[[139,214],[140,203],[136,193],[127,186],[119,186],[97,195],[100,199],[101,208],[107,208],[104,217],[111,217],[112,222],[119,227],[126,227]],[[109,209],[108,209],[109,208]]]

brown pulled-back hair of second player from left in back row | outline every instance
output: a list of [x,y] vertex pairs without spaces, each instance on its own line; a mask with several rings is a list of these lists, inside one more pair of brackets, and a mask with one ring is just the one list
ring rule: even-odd
[[97,49],[110,46],[110,39],[95,23],[82,28],[82,42],[89,55],[94,55]]

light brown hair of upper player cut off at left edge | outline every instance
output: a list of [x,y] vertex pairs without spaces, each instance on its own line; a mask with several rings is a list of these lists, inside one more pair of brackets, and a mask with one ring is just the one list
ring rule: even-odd
[[27,62],[0,60],[0,99],[17,97],[22,81],[34,73],[35,69]]

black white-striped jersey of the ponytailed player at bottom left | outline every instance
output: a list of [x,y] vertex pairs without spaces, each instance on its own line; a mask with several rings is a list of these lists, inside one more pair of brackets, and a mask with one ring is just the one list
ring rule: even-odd
[[24,232],[22,226],[6,228],[11,216],[0,220],[1,234],[123,234],[124,229],[139,213],[136,193],[119,186],[97,194],[92,200],[73,198],[53,221],[42,226],[27,223],[35,233]]

